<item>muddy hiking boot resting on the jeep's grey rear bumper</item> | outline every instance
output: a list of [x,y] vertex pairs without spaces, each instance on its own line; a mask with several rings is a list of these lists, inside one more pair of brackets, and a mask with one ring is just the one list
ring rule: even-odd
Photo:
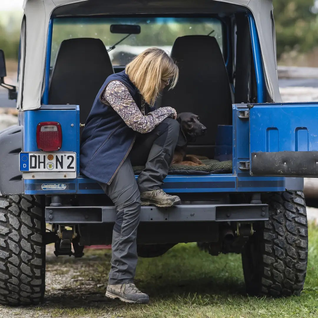
[[178,205],[181,200],[178,196],[172,196],[162,189],[145,191],[140,193],[141,205],[156,205],[162,208]]

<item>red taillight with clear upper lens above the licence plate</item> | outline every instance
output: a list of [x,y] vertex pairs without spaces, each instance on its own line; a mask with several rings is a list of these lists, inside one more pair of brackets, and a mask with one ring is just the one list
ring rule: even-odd
[[62,147],[62,128],[57,121],[42,121],[37,126],[37,145],[43,151],[57,151]]

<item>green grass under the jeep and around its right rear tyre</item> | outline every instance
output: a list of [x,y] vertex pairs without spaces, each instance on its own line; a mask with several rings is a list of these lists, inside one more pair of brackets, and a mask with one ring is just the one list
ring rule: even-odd
[[[76,277],[106,283],[110,252],[87,251]],[[96,259],[92,259],[92,254]],[[62,259],[61,259],[62,260]],[[58,258],[54,261],[61,262]],[[60,263],[63,265],[64,260]],[[67,262],[64,263],[65,265]],[[84,265],[84,264],[82,264]],[[309,260],[306,284],[300,297],[281,299],[248,297],[245,294],[240,255],[212,257],[200,252],[196,244],[179,244],[165,255],[153,259],[140,258],[137,266],[136,285],[150,296],[148,305],[127,305],[120,301],[104,301],[81,306],[80,302],[62,305],[54,302],[49,310],[52,317],[318,317],[318,228],[309,228]],[[84,281],[79,281],[85,284]],[[75,288],[75,287],[73,287]],[[102,295],[105,286],[93,286],[90,291]],[[65,293],[67,293],[65,291]],[[87,292],[86,296],[91,292]],[[86,297],[85,296],[85,297]],[[79,294],[75,298],[84,297]],[[84,298],[85,298],[84,297]],[[83,299],[84,299],[83,298]],[[75,306],[74,306],[75,305]],[[41,309],[49,309],[40,307]],[[108,317],[107,315],[107,317]]]

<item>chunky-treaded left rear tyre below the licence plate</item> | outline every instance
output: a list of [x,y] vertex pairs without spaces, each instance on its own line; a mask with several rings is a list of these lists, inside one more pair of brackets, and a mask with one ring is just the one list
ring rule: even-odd
[[39,196],[0,197],[0,303],[38,304],[45,291],[45,219]]

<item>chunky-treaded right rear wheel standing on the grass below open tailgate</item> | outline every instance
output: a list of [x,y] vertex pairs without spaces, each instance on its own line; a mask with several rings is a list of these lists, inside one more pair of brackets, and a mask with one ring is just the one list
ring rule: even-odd
[[242,251],[246,290],[251,295],[299,295],[308,256],[308,225],[302,192],[273,193],[262,198],[269,220],[255,224]]

